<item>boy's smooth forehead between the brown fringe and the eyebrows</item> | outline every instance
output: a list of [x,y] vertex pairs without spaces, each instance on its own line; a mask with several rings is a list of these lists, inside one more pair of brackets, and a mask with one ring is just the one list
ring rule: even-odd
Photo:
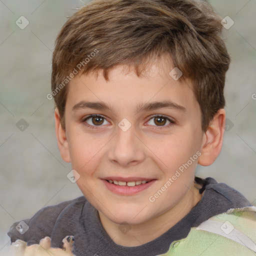
[[101,108],[111,111],[114,108],[138,111],[145,109],[145,104],[150,109],[150,102],[167,101],[180,109],[197,106],[191,81],[173,79],[171,70],[171,64],[160,60],[147,66],[141,76],[137,76],[134,69],[127,65],[110,69],[108,81],[102,69],[96,73],[76,75],[68,85],[66,106],[76,108],[84,100],[101,101]]

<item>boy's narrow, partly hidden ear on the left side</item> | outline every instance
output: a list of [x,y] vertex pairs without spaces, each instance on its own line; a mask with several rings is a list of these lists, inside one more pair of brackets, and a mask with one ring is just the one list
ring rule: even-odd
[[65,162],[70,162],[70,155],[69,155],[68,142],[66,139],[66,132],[61,126],[58,109],[55,109],[54,115],[55,115],[55,132],[56,132],[58,149],[59,149],[61,158]]

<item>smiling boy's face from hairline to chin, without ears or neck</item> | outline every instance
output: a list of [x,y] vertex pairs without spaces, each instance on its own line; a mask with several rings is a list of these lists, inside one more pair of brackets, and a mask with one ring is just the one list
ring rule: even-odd
[[[109,72],[108,82],[100,72],[97,78],[77,75],[68,85],[68,153],[62,157],[79,173],[76,183],[84,196],[115,223],[143,223],[168,212],[193,192],[196,152],[204,134],[200,107],[191,83],[175,81],[171,69],[159,62],[147,76],[138,77],[118,66]],[[86,108],[85,101],[104,103],[112,111]],[[137,111],[165,101],[171,102],[169,107]],[[104,118],[84,120],[90,114]],[[149,182],[121,186],[106,179]]]

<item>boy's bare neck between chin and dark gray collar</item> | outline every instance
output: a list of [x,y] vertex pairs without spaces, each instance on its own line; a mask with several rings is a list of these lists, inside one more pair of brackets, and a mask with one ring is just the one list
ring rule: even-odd
[[[173,208],[163,214],[137,225],[129,225],[129,231],[123,232],[120,224],[116,224],[104,216],[100,211],[99,217],[102,226],[111,239],[119,245],[138,246],[149,242],[175,225],[201,199],[198,188],[194,185],[188,189],[185,196]],[[125,228],[125,225],[123,225]],[[155,228],[157,227],[157,228]]]

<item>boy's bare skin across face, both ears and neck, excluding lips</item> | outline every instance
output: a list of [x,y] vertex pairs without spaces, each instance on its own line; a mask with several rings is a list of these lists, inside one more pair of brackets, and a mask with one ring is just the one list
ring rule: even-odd
[[[55,110],[61,157],[71,161],[72,168],[80,175],[76,180],[78,187],[98,210],[107,234],[120,245],[137,246],[151,241],[184,217],[202,197],[193,183],[197,163],[211,164],[221,150],[224,109],[215,114],[203,132],[192,83],[172,79],[169,75],[172,68],[159,59],[142,77],[124,65],[110,70],[109,81],[103,78],[102,70],[98,70],[98,76],[93,73],[75,76],[68,85],[65,130]],[[113,109],[72,110],[82,100],[103,101]],[[163,100],[171,100],[185,111],[176,108],[136,111],[138,104]],[[104,118],[99,119],[99,125],[95,118],[84,121],[90,114]],[[157,122],[153,114],[164,115],[175,123],[166,118]],[[123,118],[131,124],[126,131],[118,127]],[[155,201],[149,201],[149,196],[198,151],[200,156]],[[102,182],[106,176],[156,180],[137,194],[118,195]],[[121,230],[123,222],[127,223],[128,232]]]

